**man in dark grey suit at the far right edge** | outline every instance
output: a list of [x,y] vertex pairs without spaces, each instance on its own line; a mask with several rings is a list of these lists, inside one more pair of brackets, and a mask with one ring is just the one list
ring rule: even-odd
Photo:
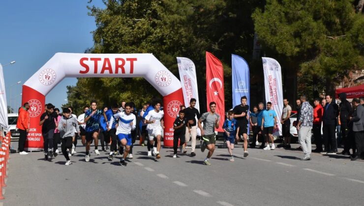
[[355,133],[357,152],[351,159],[352,161],[359,159],[364,151],[364,106],[360,104],[360,100],[357,98],[355,98],[353,102],[356,107],[356,111],[354,116],[351,118],[351,121],[353,121],[353,131]]

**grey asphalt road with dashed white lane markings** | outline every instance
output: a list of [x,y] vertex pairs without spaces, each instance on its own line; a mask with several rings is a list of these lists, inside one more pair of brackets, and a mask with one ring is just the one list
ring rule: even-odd
[[134,147],[126,167],[119,158],[108,161],[105,152],[91,153],[86,162],[84,147],[69,166],[62,155],[46,161],[40,152],[11,154],[0,205],[363,206],[363,160],[312,154],[301,161],[302,152],[283,149],[248,149],[244,158],[241,146],[234,162],[227,149],[216,148],[211,166],[202,164],[206,151],[172,158],[168,148],[156,160],[147,147]]

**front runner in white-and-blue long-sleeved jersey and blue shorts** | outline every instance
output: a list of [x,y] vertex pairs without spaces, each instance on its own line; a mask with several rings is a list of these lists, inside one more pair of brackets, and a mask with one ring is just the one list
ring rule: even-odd
[[[131,146],[131,131],[135,129],[136,118],[135,115],[131,113],[131,104],[125,103],[124,112],[119,112],[111,116],[110,122],[114,122],[114,119],[119,118],[119,126],[116,130],[119,140],[121,141],[121,146],[125,146],[124,154],[120,160],[121,166],[126,166],[125,158],[129,153]],[[112,128],[112,124],[109,125],[109,129]]]

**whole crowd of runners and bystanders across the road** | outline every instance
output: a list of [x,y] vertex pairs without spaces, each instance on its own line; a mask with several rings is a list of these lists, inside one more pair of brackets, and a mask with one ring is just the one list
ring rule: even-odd
[[[354,99],[352,103],[346,100],[345,93],[339,95],[341,103],[334,103],[332,96],[325,99],[315,99],[310,105],[305,95],[296,101],[297,104],[297,130],[300,148],[303,151],[302,160],[310,160],[311,152],[321,154],[336,154],[337,146],[344,145],[342,154],[350,155],[352,160],[361,158],[364,147],[364,98]],[[252,111],[247,105],[247,98],[241,98],[241,104],[227,112],[226,120],[222,126],[226,140],[230,161],[234,161],[234,146],[243,140],[243,156],[249,155],[247,149],[255,148],[259,136],[263,138],[261,149],[274,150],[273,133],[278,130],[278,121],[282,125],[282,144],[277,147],[291,149],[290,117],[292,108],[287,99],[283,100],[283,112],[277,117],[272,103],[268,102],[254,106]],[[92,100],[90,106],[83,108],[83,113],[78,117],[73,114],[70,106],[64,108],[62,113],[52,103],[45,105],[45,111],[40,116],[39,125],[42,126],[44,140],[44,157],[46,160],[60,154],[66,159],[66,165],[71,164],[70,156],[76,154],[78,138],[81,137],[85,146],[85,161],[90,161],[91,144],[94,143],[94,154],[99,155],[99,139],[101,151],[109,151],[108,159],[113,161],[116,154],[121,154],[120,165],[126,166],[126,158],[133,158],[132,149],[137,137],[140,145],[145,146],[147,139],[148,156],[161,158],[161,141],[163,139],[164,112],[161,110],[161,101],[155,99],[152,103],[143,105],[139,113],[134,103],[122,102],[121,107],[114,104],[110,107],[103,106],[98,109],[97,102]],[[187,153],[187,142],[191,140],[190,156],[195,156],[196,138],[200,133],[203,142],[201,151],[209,151],[203,163],[211,165],[210,158],[215,149],[215,129],[219,128],[220,116],[215,113],[216,103],[209,104],[209,112],[200,114],[195,108],[196,99],[191,99],[189,106],[181,106],[173,124],[173,158],[180,152]],[[17,128],[20,131],[19,153],[24,151],[27,132],[29,131],[29,103],[19,109]],[[336,128],[341,126],[341,138],[336,139]],[[249,132],[251,131],[251,132]],[[249,133],[253,140],[249,143]],[[313,134],[316,149],[311,151],[311,133]],[[322,134],[321,134],[322,133]],[[324,147],[322,147],[324,145]],[[110,148],[109,148],[110,147]],[[352,154],[350,154],[352,149]]]

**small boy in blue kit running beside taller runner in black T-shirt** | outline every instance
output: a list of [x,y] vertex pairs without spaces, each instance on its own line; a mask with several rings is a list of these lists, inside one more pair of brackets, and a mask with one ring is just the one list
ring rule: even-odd
[[239,139],[239,136],[237,135],[237,127],[238,125],[237,121],[234,119],[234,112],[228,111],[228,119],[225,120],[222,129],[225,132],[224,136],[226,140],[226,145],[228,147],[228,152],[230,154],[230,161],[234,161],[233,150],[234,150],[235,138]]

